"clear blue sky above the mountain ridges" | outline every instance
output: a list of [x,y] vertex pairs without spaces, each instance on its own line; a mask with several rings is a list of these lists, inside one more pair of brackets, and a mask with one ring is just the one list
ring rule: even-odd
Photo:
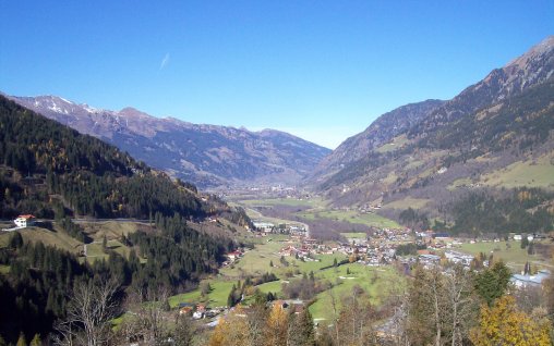
[[554,35],[554,1],[0,0],[0,90],[336,147]]

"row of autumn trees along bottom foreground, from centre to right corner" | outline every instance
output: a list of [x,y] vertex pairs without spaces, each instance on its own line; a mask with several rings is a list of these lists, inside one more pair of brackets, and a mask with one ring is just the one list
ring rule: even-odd
[[317,333],[308,307],[268,308],[261,297],[222,318],[208,345],[551,345],[553,281],[515,289],[510,276],[503,262],[479,272],[418,265],[407,293],[380,308],[359,286],[342,297],[330,289]]

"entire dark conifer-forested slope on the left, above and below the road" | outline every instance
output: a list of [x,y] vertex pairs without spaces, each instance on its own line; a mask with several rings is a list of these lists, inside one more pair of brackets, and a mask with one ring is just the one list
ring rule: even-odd
[[[228,219],[227,225],[251,224],[243,211],[198,194],[195,186],[2,96],[0,210],[2,219],[20,213],[55,219],[53,226],[51,221],[39,225],[46,228],[0,234],[0,336],[11,343],[20,332],[27,339],[35,333],[47,336],[52,323],[67,317],[75,285],[112,279],[122,299],[129,292],[156,287],[182,292],[217,272],[224,254],[237,247],[231,231],[222,225],[218,232],[196,231],[191,220],[214,217]],[[104,252],[95,259],[79,251],[91,239],[71,214],[149,222],[110,239],[125,247],[122,252],[108,247],[105,236]],[[68,252],[61,244],[45,245],[38,240],[44,233],[51,239],[73,237],[77,247]]]

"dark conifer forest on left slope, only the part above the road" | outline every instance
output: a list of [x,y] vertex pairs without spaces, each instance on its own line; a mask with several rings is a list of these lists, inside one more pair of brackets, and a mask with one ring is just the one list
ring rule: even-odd
[[51,195],[76,214],[204,217],[214,209],[188,183],[172,182],[113,146],[0,96],[0,218],[52,218]]

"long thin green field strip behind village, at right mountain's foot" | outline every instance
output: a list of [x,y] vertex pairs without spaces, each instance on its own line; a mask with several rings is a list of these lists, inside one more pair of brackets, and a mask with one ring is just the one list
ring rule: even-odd
[[327,210],[327,211],[304,211],[297,213],[306,220],[330,219],[350,223],[360,223],[368,226],[399,228],[400,225],[395,221],[383,218],[376,213],[359,213],[356,210]]

